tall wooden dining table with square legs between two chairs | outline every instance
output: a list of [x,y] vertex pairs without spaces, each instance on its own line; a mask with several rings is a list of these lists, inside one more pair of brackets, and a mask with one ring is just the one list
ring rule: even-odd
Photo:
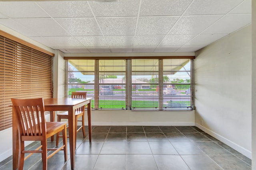
[[[89,141],[91,142],[91,97],[86,97],[85,99],[78,98],[49,98],[44,99],[44,109],[45,111],[50,111],[50,121],[54,121],[55,111],[68,111],[68,127],[69,127],[69,144],[70,144],[70,163],[71,169],[75,168],[75,142],[76,142],[76,122],[75,122],[75,110],[83,105],[87,105],[87,115],[88,115],[88,134]],[[16,153],[16,148],[19,148],[19,131],[16,124],[16,117],[12,114],[13,119],[13,129],[12,129],[12,138],[13,138],[13,170],[16,170],[18,167],[18,154]],[[52,136],[52,141],[53,141]]]

